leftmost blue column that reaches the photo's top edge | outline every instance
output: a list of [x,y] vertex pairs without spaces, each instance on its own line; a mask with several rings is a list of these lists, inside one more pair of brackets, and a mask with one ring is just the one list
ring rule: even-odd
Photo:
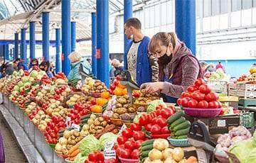
[[61,1],[61,33],[62,33],[62,71],[65,75],[70,72],[71,29],[70,29],[70,0]]

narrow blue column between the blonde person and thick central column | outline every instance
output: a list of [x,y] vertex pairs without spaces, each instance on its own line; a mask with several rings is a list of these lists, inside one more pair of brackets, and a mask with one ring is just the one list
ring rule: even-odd
[[96,13],[92,13],[92,74],[97,77],[97,60],[96,60],[96,43],[97,43],[97,28],[96,28]]

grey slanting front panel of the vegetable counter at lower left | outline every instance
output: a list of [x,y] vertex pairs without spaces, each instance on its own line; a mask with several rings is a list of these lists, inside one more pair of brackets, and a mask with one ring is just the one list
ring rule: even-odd
[[[2,96],[2,94],[0,94],[0,96]],[[44,160],[44,161],[43,160],[39,161],[37,154],[29,153],[29,155],[32,155],[32,157],[34,157],[34,160],[36,160],[36,162],[40,162],[40,163],[41,162],[49,162],[49,163],[65,162],[65,160],[61,157],[58,157],[58,155],[54,152],[54,149],[47,144],[45,137],[38,130],[38,128],[36,128],[36,125],[34,125],[29,120],[29,118],[25,115],[25,113],[23,113],[23,111],[20,108],[18,108],[17,106],[14,105],[14,103],[9,101],[9,99],[6,96],[3,96],[3,106],[6,108],[7,111],[9,111],[9,115],[12,116],[16,120],[18,125],[20,125],[20,127],[23,129],[23,130],[20,130],[19,132],[23,132],[24,133],[23,135],[25,137],[26,136],[28,137],[28,140],[30,140],[31,145],[36,147],[35,150],[38,151],[38,153],[41,155],[41,157]],[[13,122],[7,122],[7,123],[13,123]],[[14,133],[15,135],[14,130],[12,130],[12,133]],[[16,139],[18,139],[17,135],[15,135],[15,137]],[[20,146],[22,146],[21,144],[19,143]],[[21,147],[21,149],[23,149],[23,147]],[[23,152],[25,155],[28,155],[26,154],[26,152],[29,152],[29,151],[23,150]]]

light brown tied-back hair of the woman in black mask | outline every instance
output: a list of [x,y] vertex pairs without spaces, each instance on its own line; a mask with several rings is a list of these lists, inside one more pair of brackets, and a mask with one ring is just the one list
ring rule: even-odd
[[156,47],[159,47],[160,45],[164,45],[164,46],[168,47],[170,43],[175,48],[178,41],[179,40],[177,38],[177,35],[174,32],[156,33],[156,35],[154,35],[153,38],[151,38],[151,40],[149,42],[149,53],[154,54],[154,52],[156,51]]

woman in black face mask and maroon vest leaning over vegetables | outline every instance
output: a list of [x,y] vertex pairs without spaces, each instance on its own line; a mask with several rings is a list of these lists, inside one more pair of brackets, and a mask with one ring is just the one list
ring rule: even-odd
[[181,93],[203,77],[201,66],[176,33],[156,33],[149,43],[149,52],[159,63],[159,81],[141,86],[146,92],[160,91],[164,101],[176,103]]

